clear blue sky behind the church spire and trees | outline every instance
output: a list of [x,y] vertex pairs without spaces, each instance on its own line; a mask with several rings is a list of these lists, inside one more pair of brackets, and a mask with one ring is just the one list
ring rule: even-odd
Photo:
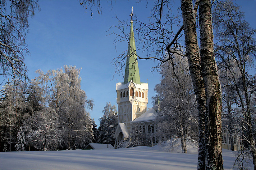
[[[245,17],[255,28],[255,1],[236,1],[245,11]],[[94,99],[94,109],[90,112],[92,118],[99,126],[99,117],[103,116],[102,110],[107,102],[116,104],[116,83],[123,81],[123,76],[115,74],[111,64],[115,57],[127,50],[127,42],[120,42],[115,49],[115,36],[109,35],[107,30],[112,25],[117,25],[118,20],[130,21],[131,7],[138,20],[148,22],[153,1],[101,1],[102,15],[93,11],[85,13],[83,6],[77,1],[39,1],[41,11],[29,19],[30,32],[26,43],[30,56],[25,57],[29,70],[28,77],[33,79],[38,76],[35,70],[59,69],[63,65],[75,65],[81,68],[81,89],[85,91],[88,99]],[[173,1],[173,13],[180,7],[180,1]],[[111,10],[112,8],[112,10]],[[126,32],[129,33],[130,28]],[[136,32],[135,32],[136,34]],[[136,44],[138,45],[138,43]],[[137,51],[138,55],[143,53]],[[149,83],[149,103],[152,107],[152,96],[155,96],[154,87],[160,83],[159,74],[152,73],[151,67],[157,65],[154,61],[139,60],[139,73],[141,82]],[[114,77],[113,77],[114,75]]]

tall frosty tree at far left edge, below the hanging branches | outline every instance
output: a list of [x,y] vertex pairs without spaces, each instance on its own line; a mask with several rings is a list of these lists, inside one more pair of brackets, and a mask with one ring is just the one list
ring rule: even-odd
[[20,126],[28,116],[24,88],[17,82],[7,81],[1,90],[1,144],[9,145],[9,151],[14,147],[12,144],[16,143]]

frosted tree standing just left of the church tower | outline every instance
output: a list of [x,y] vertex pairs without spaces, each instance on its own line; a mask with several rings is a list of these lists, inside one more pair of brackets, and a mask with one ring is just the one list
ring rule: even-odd
[[99,118],[99,139],[98,143],[106,143],[114,146],[115,139],[114,134],[117,129],[117,108],[111,103],[107,103],[102,111],[103,117]]

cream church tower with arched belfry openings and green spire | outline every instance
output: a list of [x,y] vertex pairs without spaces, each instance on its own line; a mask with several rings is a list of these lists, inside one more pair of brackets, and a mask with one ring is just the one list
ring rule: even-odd
[[133,21],[131,13],[130,37],[126,58],[124,82],[116,84],[118,104],[118,126],[114,138],[116,141],[128,138],[131,121],[147,111],[148,83],[141,83],[136,55]]

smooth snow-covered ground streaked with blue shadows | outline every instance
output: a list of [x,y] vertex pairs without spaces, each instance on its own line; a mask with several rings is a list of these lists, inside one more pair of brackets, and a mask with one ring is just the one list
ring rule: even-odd
[[[1,152],[1,169],[196,169],[197,151],[134,147],[101,150]],[[224,169],[233,169],[234,152],[223,149]],[[253,169],[253,168],[251,168]]]

